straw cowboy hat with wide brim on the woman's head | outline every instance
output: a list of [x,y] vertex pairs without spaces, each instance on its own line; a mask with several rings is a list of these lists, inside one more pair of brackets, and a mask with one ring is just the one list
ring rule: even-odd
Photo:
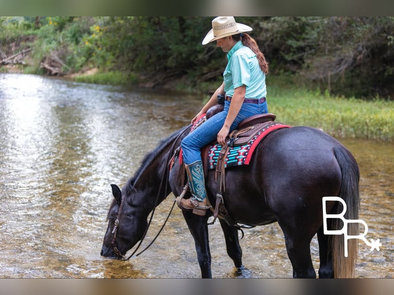
[[212,20],[212,29],[205,36],[203,45],[223,37],[250,32],[252,30],[249,26],[236,23],[234,16],[218,16]]

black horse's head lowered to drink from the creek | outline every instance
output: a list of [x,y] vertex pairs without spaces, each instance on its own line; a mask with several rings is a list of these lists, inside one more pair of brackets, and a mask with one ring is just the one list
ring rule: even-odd
[[147,218],[133,206],[131,200],[134,189],[124,190],[123,194],[118,186],[111,185],[113,201],[108,212],[108,228],[104,235],[101,255],[113,259],[124,259],[128,250],[142,238],[147,228]]

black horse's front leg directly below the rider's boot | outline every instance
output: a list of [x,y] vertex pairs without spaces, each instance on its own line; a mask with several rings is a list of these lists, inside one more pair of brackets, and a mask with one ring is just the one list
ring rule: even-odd
[[208,239],[208,217],[199,216],[192,211],[182,211],[187,226],[194,238],[195,250],[197,251],[197,259],[201,268],[201,277],[203,279],[212,278],[211,272],[211,252],[209,250]]

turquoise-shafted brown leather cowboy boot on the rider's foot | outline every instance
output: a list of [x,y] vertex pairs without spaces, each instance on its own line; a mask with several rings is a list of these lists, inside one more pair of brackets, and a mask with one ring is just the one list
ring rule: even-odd
[[203,162],[200,160],[195,161],[185,165],[185,167],[192,197],[184,199],[178,196],[176,197],[176,203],[183,210],[193,210],[194,214],[204,216],[210,207],[207,206]]

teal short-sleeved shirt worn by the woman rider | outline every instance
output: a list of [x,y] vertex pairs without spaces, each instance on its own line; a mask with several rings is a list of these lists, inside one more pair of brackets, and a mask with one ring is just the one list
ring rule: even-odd
[[241,41],[227,53],[228,63],[223,72],[224,91],[234,96],[234,89],[246,86],[245,98],[266,97],[265,73],[259,66],[256,54]]

